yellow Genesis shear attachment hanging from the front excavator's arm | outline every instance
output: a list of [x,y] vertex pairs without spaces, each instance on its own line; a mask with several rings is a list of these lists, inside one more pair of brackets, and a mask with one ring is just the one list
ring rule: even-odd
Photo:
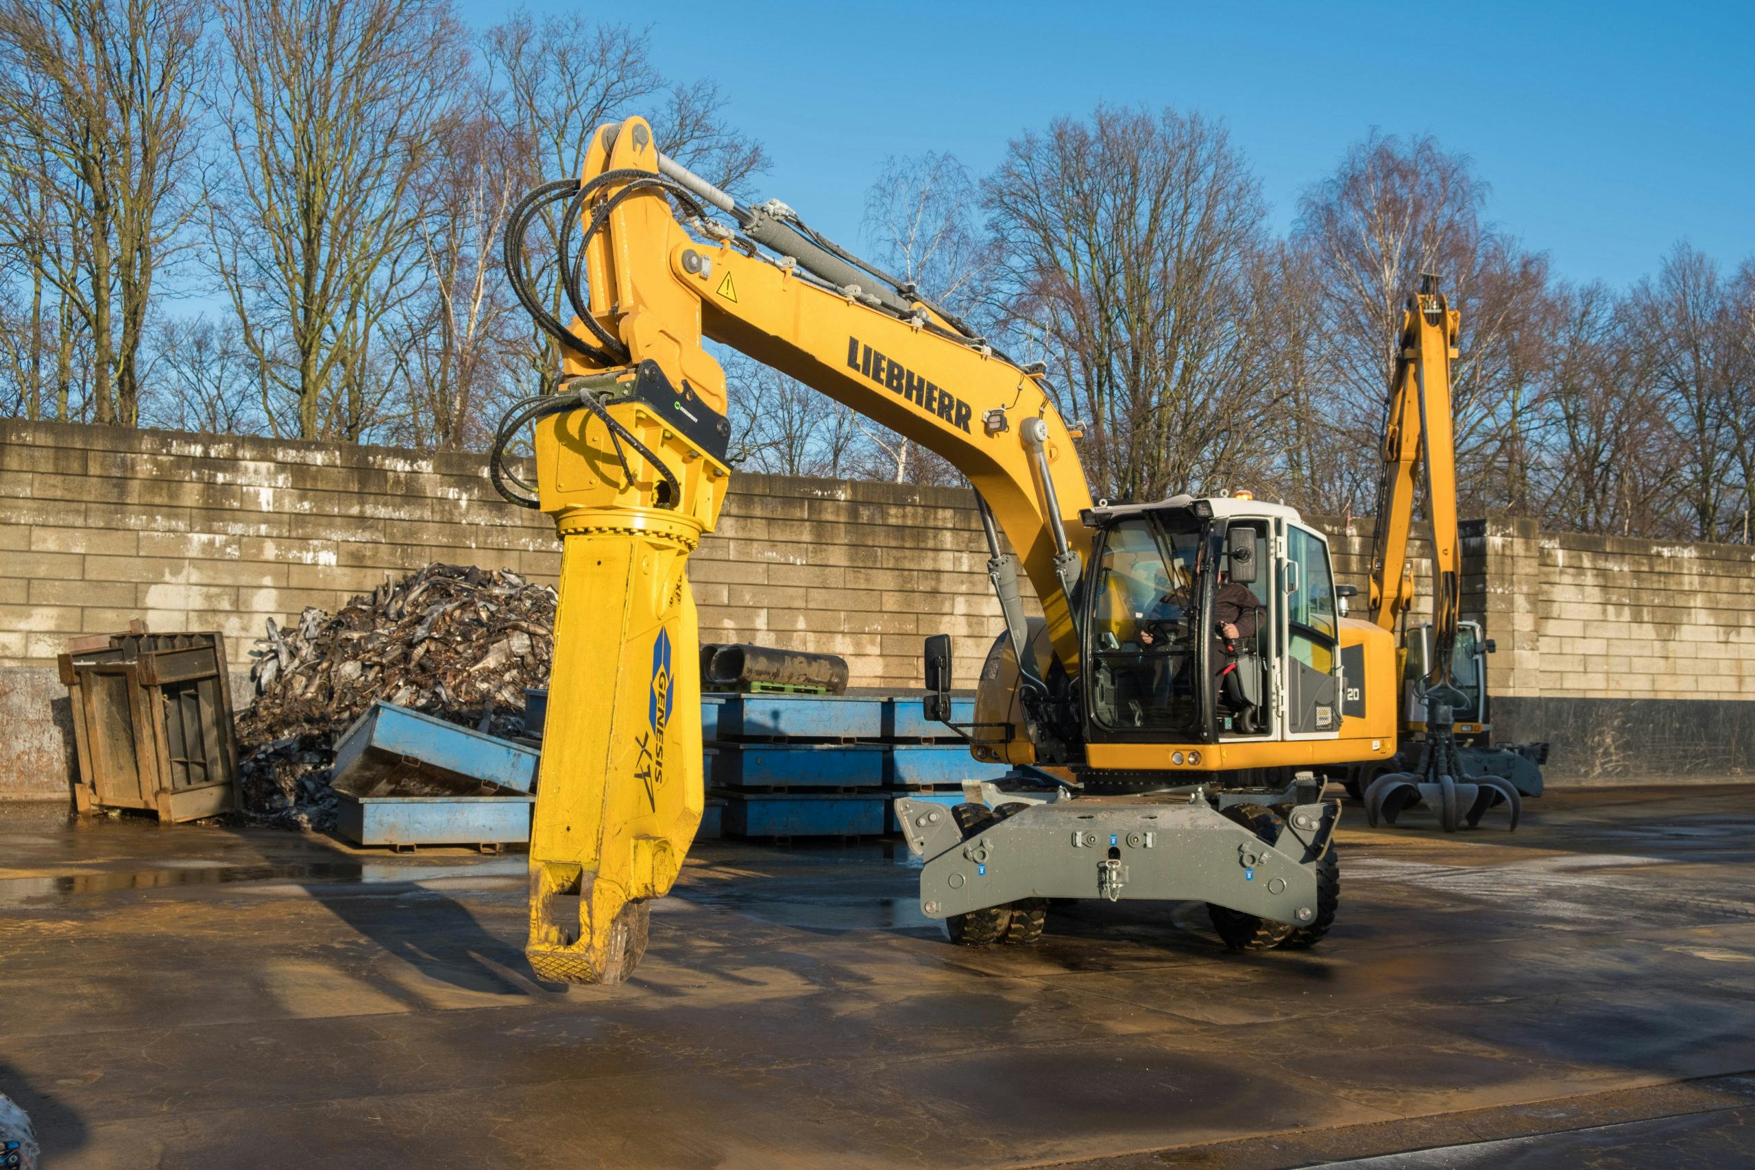
[[634,972],[646,900],[670,889],[700,824],[686,565],[718,519],[727,468],[667,417],[651,384],[653,370],[574,379],[591,403],[537,426],[539,496],[562,565],[525,954],[555,982]]

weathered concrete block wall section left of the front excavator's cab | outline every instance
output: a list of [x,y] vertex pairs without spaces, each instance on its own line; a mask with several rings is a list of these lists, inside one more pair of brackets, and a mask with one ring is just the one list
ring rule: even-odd
[[[218,630],[242,672],[269,617],[428,561],[553,584],[560,542],[474,454],[0,421],[0,798],[65,793],[68,639]],[[855,686],[920,686],[927,633],[972,686],[1000,628],[967,491],[737,475],[690,570],[704,640],[842,654]]]

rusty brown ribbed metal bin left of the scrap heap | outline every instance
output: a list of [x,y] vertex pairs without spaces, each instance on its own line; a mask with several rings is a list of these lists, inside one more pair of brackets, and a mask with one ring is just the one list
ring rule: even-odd
[[235,807],[221,635],[116,633],[81,640],[60,667],[74,709],[79,812],[147,809],[168,823]]

